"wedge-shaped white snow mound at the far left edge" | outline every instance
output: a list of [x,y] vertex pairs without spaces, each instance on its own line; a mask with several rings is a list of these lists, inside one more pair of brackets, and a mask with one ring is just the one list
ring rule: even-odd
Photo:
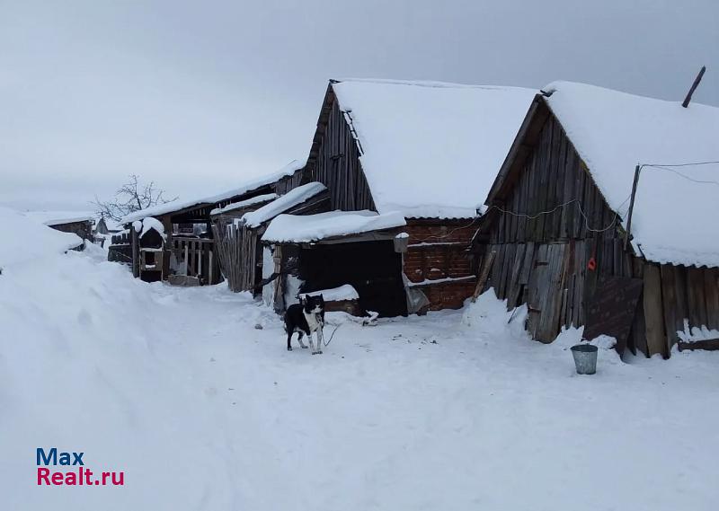
[[83,244],[77,234],[61,233],[7,207],[0,207],[0,239],[0,269]]

